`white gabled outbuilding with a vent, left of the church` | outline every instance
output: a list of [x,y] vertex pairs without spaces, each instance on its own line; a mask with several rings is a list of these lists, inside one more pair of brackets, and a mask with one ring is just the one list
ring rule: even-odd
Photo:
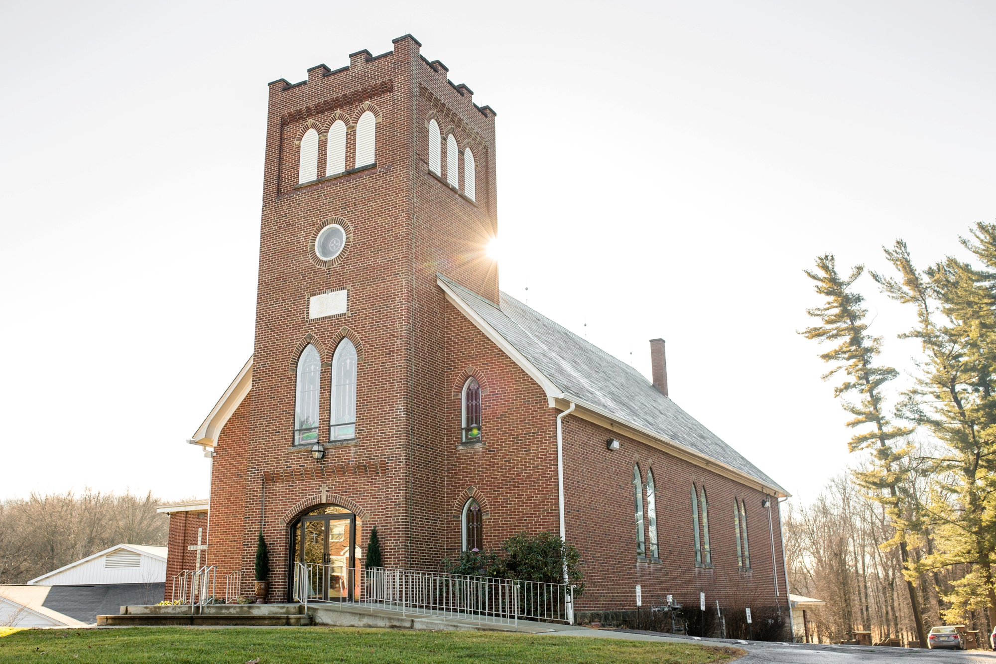
[[165,583],[166,547],[118,544],[28,581],[28,585]]

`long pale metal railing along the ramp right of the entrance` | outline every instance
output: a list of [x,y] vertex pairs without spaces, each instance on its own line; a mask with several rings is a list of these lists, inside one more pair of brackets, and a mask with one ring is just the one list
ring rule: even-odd
[[508,578],[298,562],[294,598],[445,618],[518,625],[574,623],[574,586]]

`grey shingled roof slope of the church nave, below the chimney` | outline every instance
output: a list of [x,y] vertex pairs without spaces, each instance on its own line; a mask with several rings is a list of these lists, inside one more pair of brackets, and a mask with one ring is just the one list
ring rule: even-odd
[[[546,392],[574,402],[665,448],[714,462],[737,479],[788,496],[782,487],[654,388],[638,371],[539,312],[499,294],[499,304],[441,274],[447,299]],[[718,469],[714,469],[718,470]],[[729,474],[729,473],[728,473]]]

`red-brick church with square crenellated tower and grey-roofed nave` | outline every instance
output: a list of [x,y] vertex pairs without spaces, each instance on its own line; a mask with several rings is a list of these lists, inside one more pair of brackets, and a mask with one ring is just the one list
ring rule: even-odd
[[362,566],[373,526],[424,570],[546,530],[581,612],[637,584],[787,610],[785,490],[668,398],[662,340],[651,383],[499,290],[496,114],[393,44],[269,84],[253,355],[189,441],[210,499],[171,515],[167,592],[196,555],[251,595],[261,530],[271,602],[295,561]]

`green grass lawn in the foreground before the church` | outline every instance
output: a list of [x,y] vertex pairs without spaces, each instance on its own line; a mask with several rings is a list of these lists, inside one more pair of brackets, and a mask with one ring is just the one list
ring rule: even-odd
[[[23,629],[0,632],[0,662],[728,662],[742,651],[684,643],[353,627]],[[44,657],[44,659],[40,659]]]

